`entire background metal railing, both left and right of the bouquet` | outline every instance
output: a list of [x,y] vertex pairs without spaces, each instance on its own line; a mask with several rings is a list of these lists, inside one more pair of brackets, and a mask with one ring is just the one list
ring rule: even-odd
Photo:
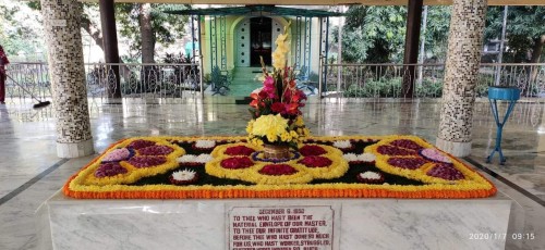
[[[114,66],[119,67],[119,74]],[[202,95],[199,63],[186,64],[85,64],[85,83],[93,101],[114,98],[187,98]],[[310,93],[341,98],[403,98],[402,83],[414,78],[415,98],[443,95],[445,64],[320,64],[322,74],[311,74],[298,83]],[[413,68],[410,72],[409,68]],[[26,89],[39,99],[51,97],[46,63],[8,65],[7,102],[32,100]],[[412,73],[412,74],[411,74]],[[119,77],[119,88],[116,84]],[[16,83],[15,83],[16,82]],[[319,84],[322,83],[322,84]],[[476,97],[486,97],[488,86],[516,86],[525,98],[545,97],[545,63],[481,64]]]

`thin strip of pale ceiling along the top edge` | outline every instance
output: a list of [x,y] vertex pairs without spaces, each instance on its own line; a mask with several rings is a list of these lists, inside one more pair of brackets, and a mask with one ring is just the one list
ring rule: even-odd
[[[84,0],[86,1],[86,0]],[[89,0],[98,1],[98,0]],[[116,2],[153,2],[183,4],[276,4],[276,5],[407,5],[408,0],[114,0]],[[424,5],[447,5],[452,0],[424,0]],[[488,5],[545,5],[545,0],[488,0]]]

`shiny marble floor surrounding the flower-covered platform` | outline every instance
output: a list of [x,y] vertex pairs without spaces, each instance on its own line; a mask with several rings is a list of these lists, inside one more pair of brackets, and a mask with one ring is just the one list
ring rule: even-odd
[[[206,99],[124,99],[123,104],[89,102],[96,152],[126,137],[148,135],[244,135],[247,105],[225,97]],[[505,109],[505,107],[501,107]],[[310,100],[303,109],[305,123],[315,135],[411,134],[435,143],[440,103],[436,100]],[[510,183],[545,199],[545,109],[542,103],[520,102],[506,124],[502,149],[508,158],[485,163],[494,148],[496,124],[489,104],[475,103],[471,159]],[[55,166],[55,112],[31,104],[0,107],[0,249],[33,249],[36,241],[34,212],[59,190],[66,178],[92,157]],[[52,167],[52,168],[51,168]],[[44,171],[50,173],[36,178]],[[498,190],[517,203],[510,233],[534,233],[537,240],[508,240],[507,249],[545,246],[545,209],[512,187],[487,176]],[[3,199],[34,179],[13,198]]]

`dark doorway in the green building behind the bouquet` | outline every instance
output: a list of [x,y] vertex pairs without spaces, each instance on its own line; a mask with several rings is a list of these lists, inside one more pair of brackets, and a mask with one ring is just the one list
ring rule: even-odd
[[259,16],[250,18],[250,65],[261,66],[259,57],[265,65],[272,64],[272,20]]

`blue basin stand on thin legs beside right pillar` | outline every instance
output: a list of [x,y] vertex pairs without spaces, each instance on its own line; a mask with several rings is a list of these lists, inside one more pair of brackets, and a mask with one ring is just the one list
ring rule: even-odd
[[[488,100],[491,101],[492,113],[494,114],[494,118],[496,120],[496,125],[498,126],[496,133],[496,147],[494,151],[492,151],[491,155],[486,158],[486,163],[491,163],[492,158],[496,151],[499,153],[499,164],[504,165],[506,163],[506,158],[501,152],[501,132],[504,130],[504,125],[511,114],[512,109],[514,108],[514,103],[520,99],[520,89],[514,87],[488,87]],[[498,105],[497,100],[509,101],[509,108],[507,108],[506,116],[504,116],[504,122],[499,122],[498,115]]]

